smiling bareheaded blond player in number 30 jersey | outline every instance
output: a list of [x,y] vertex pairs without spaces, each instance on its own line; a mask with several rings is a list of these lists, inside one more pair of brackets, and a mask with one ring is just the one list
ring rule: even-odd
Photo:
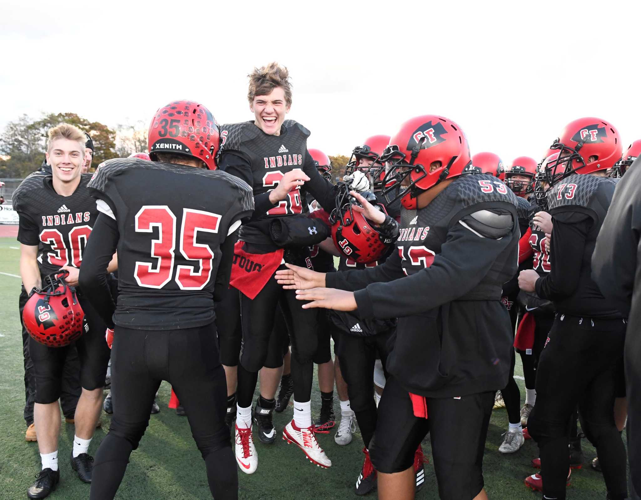
[[[18,241],[21,242],[21,277],[26,290],[42,288],[42,278],[67,270],[67,284],[78,286],[78,273],[85,245],[96,225],[96,203],[88,193],[90,175],[81,174],[85,158],[85,134],[62,123],[49,130],[47,164],[52,175],[31,175],[13,194],[13,205],[20,214]],[[107,264],[112,260],[110,254]],[[115,261],[114,261],[115,262]],[[111,264],[115,268],[115,264]],[[105,265],[103,274],[107,270]],[[113,269],[112,269],[113,270]],[[88,331],[75,343],[79,355],[82,392],[74,416],[76,435],[71,466],[81,481],[92,481],[93,458],[87,453],[103,402],[104,376],[109,361],[104,322],[87,301],[86,292],[77,290]],[[60,481],[58,435],[65,358],[72,346],[47,347],[29,339],[29,355],[34,372],[34,424],[42,470],[28,489],[29,498],[47,497]]]

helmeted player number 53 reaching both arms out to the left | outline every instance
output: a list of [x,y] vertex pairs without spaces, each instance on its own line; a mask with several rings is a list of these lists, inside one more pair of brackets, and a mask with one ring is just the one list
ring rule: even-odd
[[[404,207],[398,252],[374,268],[322,274],[288,265],[276,277],[312,301],[304,309],[399,316],[370,442],[379,498],[413,498],[415,450],[429,429],[440,498],[487,499],[485,437],[510,370],[501,286],[517,268],[516,197],[495,177],[462,175],[467,139],[441,116],[404,123],[383,160]],[[358,198],[381,223],[383,214]]]

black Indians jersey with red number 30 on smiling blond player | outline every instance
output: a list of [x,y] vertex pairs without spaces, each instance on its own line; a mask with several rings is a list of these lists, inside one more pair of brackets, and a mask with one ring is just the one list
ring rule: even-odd
[[83,174],[71,196],[53,189],[53,176],[36,171],[13,193],[13,208],[20,216],[18,241],[38,245],[40,273],[47,275],[62,266],[80,267],[82,255],[98,216],[96,200]]

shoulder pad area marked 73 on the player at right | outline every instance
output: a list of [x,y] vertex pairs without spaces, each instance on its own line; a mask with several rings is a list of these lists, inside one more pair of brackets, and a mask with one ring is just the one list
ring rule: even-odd
[[616,179],[612,177],[572,174],[554,184],[547,194],[548,207],[550,211],[572,206],[590,208],[590,202],[599,193],[609,192],[609,198],[612,198],[616,185]]

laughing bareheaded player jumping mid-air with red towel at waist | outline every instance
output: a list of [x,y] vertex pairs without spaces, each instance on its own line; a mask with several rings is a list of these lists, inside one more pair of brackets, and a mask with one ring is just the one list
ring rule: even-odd
[[[238,365],[237,417],[235,426],[238,467],[252,474],[258,456],[251,435],[252,399],[259,370],[265,366],[277,306],[281,307],[292,335],[292,383],[294,418],[283,430],[283,439],[300,447],[312,463],[330,467],[331,460],[319,446],[312,425],[311,393],[313,355],[317,350],[317,313],[301,309],[292,291],[281,289],[271,279],[283,262],[305,265],[307,247],[292,246],[285,254],[265,227],[273,218],[301,214],[300,187],[305,185],[322,206],[329,206],[335,187],[318,173],[306,148],[310,132],[293,120],[285,120],[292,104],[287,69],[276,63],[255,69],[249,75],[249,108],[252,121],[221,127],[221,169],[251,185],[256,211],[251,222],[240,228],[235,246],[231,286],[239,289],[243,347]],[[360,173],[353,187],[367,189]],[[275,388],[278,386],[276,379]],[[263,398],[265,399],[265,398]],[[273,399],[260,400],[262,408],[274,408]]]

